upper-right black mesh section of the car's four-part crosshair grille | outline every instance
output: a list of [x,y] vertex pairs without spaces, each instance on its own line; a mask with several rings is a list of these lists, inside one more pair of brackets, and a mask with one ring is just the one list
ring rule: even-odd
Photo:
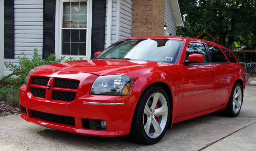
[[73,88],[73,89],[77,89],[78,85],[79,85],[79,81],[64,80],[64,79],[56,79],[54,83],[54,87]]

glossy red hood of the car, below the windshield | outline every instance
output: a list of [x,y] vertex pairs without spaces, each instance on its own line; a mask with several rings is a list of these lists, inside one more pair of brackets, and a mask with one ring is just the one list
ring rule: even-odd
[[153,66],[168,65],[168,63],[122,60],[122,59],[91,59],[82,61],[62,62],[36,67],[35,69],[62,70],[84,72],[95,75],[114,75],[127,71]]

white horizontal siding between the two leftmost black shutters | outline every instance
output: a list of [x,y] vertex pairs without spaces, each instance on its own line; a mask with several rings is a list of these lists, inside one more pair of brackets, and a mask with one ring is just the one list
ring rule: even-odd
[[[4,59],[19,65],[17,57],[24,52],[29,59],[38,48],[42,55],[43,47],[43,0],[14,0],[14,58]],[[4,68],[4,74],[12,72]]]

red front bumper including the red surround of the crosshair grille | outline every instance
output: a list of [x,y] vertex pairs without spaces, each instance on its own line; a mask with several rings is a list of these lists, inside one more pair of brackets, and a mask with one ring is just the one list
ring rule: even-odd
[[[31,80],[29,79],[28,85],[30,86],[23,85],[20,88],[20,105],[26,108],[25,114],[21,107],[21,117],[28,122],[41,126],[86,136],[116,137],[129,134],[133,112],[139,95],[91,95],[89,94],[89,90],[97,76],[87,73],[75,74],[76,79],[80,81],[80,85],[77,89],[76,98],[73,101],[54,100],[51,97],[47,97],[48,94],[51,95],[51,89],[49,92],[48,90],[46,91],[45,98],[34,96],[30,90]],[[59,75],[61,76],[58,77]],[[31,76],[48,76],[50,77],[50,82],[51,78],[65,77],[74,79],[74,72],[45,70],[39,72],[39,70],[36,70]],[[96,104],[86,102],[95,102]],[[32,110],[74,117],[75,124],[68,125],[36,118],[33,116]],[[83,128],[82,119],[105,120],[107,123],[106,130]]]

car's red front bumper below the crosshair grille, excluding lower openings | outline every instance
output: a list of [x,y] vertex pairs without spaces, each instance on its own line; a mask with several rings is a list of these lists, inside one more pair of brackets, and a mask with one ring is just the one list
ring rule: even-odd
[[[27,115],[22,112],[21,117],[28,122],[32,122],[48,128],[75,133],[86,136],[103,136],[103,137],[116,137],[129,134],[132,116],[133,104],[138,96],[106,96],[106,95],[86,95],[82,98],[76,99],[69,104],[54,101],[44,101],[35,99],[31,93],[21,94],[27,95],[27,105],[21,104],[26,107]],[[107,101],[111,100],[111,101]],[[104,104],[84,104],[83,102],[111,102],[121,103],[121,105],[104,105]],[[41,112],[71,116],[75,118],[75,126],[66,125],[46,121],[43,119],[35,118],[31,110]],[[101,119],[107,123],[106,130],[85,129],[82,127],[82,118],[86,119]]]

